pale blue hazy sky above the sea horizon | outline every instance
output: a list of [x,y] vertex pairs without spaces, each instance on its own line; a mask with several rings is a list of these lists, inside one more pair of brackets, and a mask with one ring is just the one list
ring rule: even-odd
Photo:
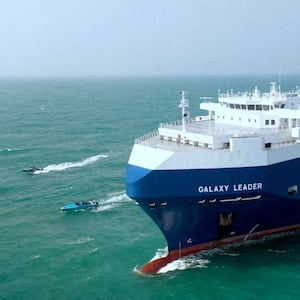
[[299,0],[3,0],[0,76],[300,74]]

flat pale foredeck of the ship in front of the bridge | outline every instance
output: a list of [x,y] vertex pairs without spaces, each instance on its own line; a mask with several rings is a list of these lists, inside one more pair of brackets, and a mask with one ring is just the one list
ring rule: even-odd
[[297,142],[288,129],[233,126],[214,120],[190,122],[185,124],[185,131],[182,130],[180,122],[160,124],[157,131],[148,133],[135,142],[154,148],[171,148],[173,151],[195,151],[195,148],[228,151],[231,138],[253,137],[261,137],[272,147],[283,147]]

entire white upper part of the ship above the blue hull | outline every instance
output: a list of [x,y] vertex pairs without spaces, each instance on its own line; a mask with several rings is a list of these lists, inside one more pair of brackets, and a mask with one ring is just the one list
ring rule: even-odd
[[263,166],[299,155],[298,88],[282,93],[272,82],[269,93],[255,87],[251,93],[219,93],[218,102],[201,98],[200,109],[207,114],[194,119],[181,92],[179,107],[180,121],[160,124],[158,132],[136,140],[130,163],[144,165],[145,151],[151,152],[149,169]]

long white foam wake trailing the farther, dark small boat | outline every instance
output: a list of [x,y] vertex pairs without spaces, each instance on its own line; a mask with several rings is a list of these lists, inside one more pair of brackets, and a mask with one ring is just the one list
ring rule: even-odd
[[61,164],[53,164],[53,165],[49,165],[45,168],[43,168],[42,170],[36,170],[33,173],[34,174],[45,174],[45,173],[49,173],[49,172],[59,172],[59,171],[64,171],[70,168],[80,168],[80,167],[84,167],[90,164],[93,164],[95,162],[97,162],[98,160],[102,159],[102,158],[106,158],[108,157],[108,155],[105,154],[99,154],[99,155],[95,155],[95,156],[91,156],[89,158],[86,158],[82,161],[78,161],[78,162],[64,162]]

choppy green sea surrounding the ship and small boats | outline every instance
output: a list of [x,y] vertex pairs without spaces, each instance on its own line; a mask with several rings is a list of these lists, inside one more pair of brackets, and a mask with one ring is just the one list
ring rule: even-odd
[[[0,299],[299,299],[297,232],[139,274],[166,243],[125,192],[134,139],[180,119],[181,90],[197,116],[200,96],[270,81],[278,76],[0,79]],[[296,85],[300,76],[281,78],[282,90]],[[44,170],[22,172],[31,166]],[[95,210],[60,211],[92,199]]]

